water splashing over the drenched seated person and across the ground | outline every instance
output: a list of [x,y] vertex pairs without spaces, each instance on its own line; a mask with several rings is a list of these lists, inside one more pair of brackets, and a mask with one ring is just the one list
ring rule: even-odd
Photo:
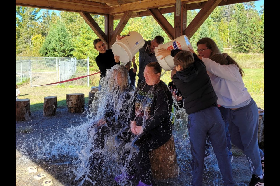
[[[19,144],[17,149],[37,162],[71,165],[67,172],[74,180],[73,185],[116,185],[114,177],[129,169],[135,150],[131,147],[134,139],[125,144],[116,141],[116,136],[130,126],[134,89],[129,86],[127,69],[121,65],[108,70],[100,83],[102,88],[95,94],[88,115],[81,119],[79,126],[54,129],[47,135],[42,133]],[[190,171],[188,115],[184,109],[173,110],[171,118],[174,118],[172,128],[178,164],[180,170]],[[103,121],[106,123],[100,124]],[[106,126],[105,129],[102,126]],[[211,164],[208,169],[213,169],[211,167],[216,170],[217,164]],[[119,185],[136,185],[137,182],[124,181]],[[165,184],[169,185],[168,182]]]

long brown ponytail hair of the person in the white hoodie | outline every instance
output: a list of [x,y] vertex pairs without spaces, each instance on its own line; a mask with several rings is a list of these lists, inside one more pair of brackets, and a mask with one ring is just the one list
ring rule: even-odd
[[232,59],[229,55],[227,55],[227,53],[214,54],[210,57],[210,59],[221,65],[230,65],[230,64],[236,65],[239,69],[239,73],[241,77],[245,76],[245,73],[242,70],[242,68],[238,65],[236,61],[234,61],[234,59]]

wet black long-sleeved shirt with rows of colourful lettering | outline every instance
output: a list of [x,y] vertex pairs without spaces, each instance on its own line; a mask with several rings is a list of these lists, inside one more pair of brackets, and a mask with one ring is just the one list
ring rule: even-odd
[[151,135],[170,137],[172,101],[171,92],[163,81],[153,86],[142,82],[134,94],[131,121],[143,125],[143,131]]

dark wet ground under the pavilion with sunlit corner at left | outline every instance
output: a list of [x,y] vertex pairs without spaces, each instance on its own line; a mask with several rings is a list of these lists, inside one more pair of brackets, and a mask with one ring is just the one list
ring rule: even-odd
[[[16,185],[18,186],[38,186],[50,184],[51,180],[54,186],[75,186],[78,182],[71,176],[71,163],[54,163],[51,161],[37,161],[32,155],[34,149],[38,148],[36,138],[48,138],[63,133],[70,126],[80,126],[83,121],[88,119],[87,111],[83,113],[69,113],[67,108],[57,108],[56,115],[52,117],[43,117],[43,110],[31,112],[31,118],[27,121],[16,121]],[[264,151],[264,149],[262,149]],[[213,152],[213,151],[212,151]],[[233,178],[238,186],[249,184],[251,173],[249,171],[248,161],[239,149],[232,146],[234,159],[232,161]],[[213,153],[214,154],[214,153]],[[154,186],[181,186],[190,185],[191,181],[191,160],[179,161],[180,175],[177,178],[168,180],[153,180]],[[219,170],[216,170],[216,156],[207,160],[203,185],[222,185]],[[37,167],[36,173],[29,173],[29,167]],[[45,178],[36,180],[34,176],[41,174]],[[44,177],[44,176],[42,176]],[[132,183],[136,185],[137,181]],[[92,185],[84,183],[83,185]],[[98,185],[98,184],[96,184]]]

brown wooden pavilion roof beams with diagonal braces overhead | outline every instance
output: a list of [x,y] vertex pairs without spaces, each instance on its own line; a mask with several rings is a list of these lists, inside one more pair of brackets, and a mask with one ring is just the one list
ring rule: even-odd
[[[173,40],[181,35],[189,39],[217,6],[244,3],[252,0],[16,0],[16,6],[78,12],[95,34],[111,48],[128,20],[133,17],[152,15],[168,37]],[[186,25],[187,10],[200,9]],[[174,27],[164,13],[174,12]],[[105,31],[91,14],[104,15]],[[114,20],[120,19],[113,29]]]

